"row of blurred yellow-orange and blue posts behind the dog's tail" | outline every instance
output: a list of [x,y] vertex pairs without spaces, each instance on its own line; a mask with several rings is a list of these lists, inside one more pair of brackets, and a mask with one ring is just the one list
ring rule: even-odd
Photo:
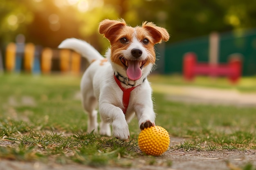
[[71,72],[79,74],[81,71],[81,55],[67,49],[53,50],[40,49],[32,43],[10,43],[6,48],[5,68],[7,71],[20,72],[22,69],[29,73],[50,73],[53,68],[53,60],[59,62],[61,73]]

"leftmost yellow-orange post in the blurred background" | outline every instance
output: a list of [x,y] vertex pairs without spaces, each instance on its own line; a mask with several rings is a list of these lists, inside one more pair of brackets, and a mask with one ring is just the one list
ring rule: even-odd
[[15,67],[16,44],[11,42],[6,47],[5,67],[7,71],[13,71]]

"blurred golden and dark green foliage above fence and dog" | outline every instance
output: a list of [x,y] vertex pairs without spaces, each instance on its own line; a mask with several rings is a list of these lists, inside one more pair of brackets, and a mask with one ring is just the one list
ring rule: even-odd
[[0,46],[22,33],[27,42],[53,48],[65,38],[81,38],[103,52],[108,42],[98,25],[105,18],[124,18],[131,26],[155,22],[168,29],[172,43],[254,28],[255,9],[252,0],[1,0]]

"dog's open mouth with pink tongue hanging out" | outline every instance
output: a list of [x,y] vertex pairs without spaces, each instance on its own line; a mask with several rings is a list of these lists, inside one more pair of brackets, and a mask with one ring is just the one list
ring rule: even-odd
[[146,64],[146,60],[126,60],[124,57],[119,58],[126,68],[127,77],[131,80],[137,80],[141,77],[141,69]]

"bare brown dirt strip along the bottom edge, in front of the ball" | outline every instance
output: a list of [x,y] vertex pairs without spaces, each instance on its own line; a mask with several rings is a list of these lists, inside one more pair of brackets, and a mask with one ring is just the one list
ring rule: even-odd
[[[156,157],[153,165],[148,165],[147,160],[144,160],[143,157],[134,160],[131,168],[93,168],[74,163],[61,165],[0,159],[0,170],[240,170],[235,168],[245,166],[247,163],[256,166],[256,150],[221,150],[218,152],[168,150],[164,155]],[[165,162],[170,160],[172,165],[167,167]]]

